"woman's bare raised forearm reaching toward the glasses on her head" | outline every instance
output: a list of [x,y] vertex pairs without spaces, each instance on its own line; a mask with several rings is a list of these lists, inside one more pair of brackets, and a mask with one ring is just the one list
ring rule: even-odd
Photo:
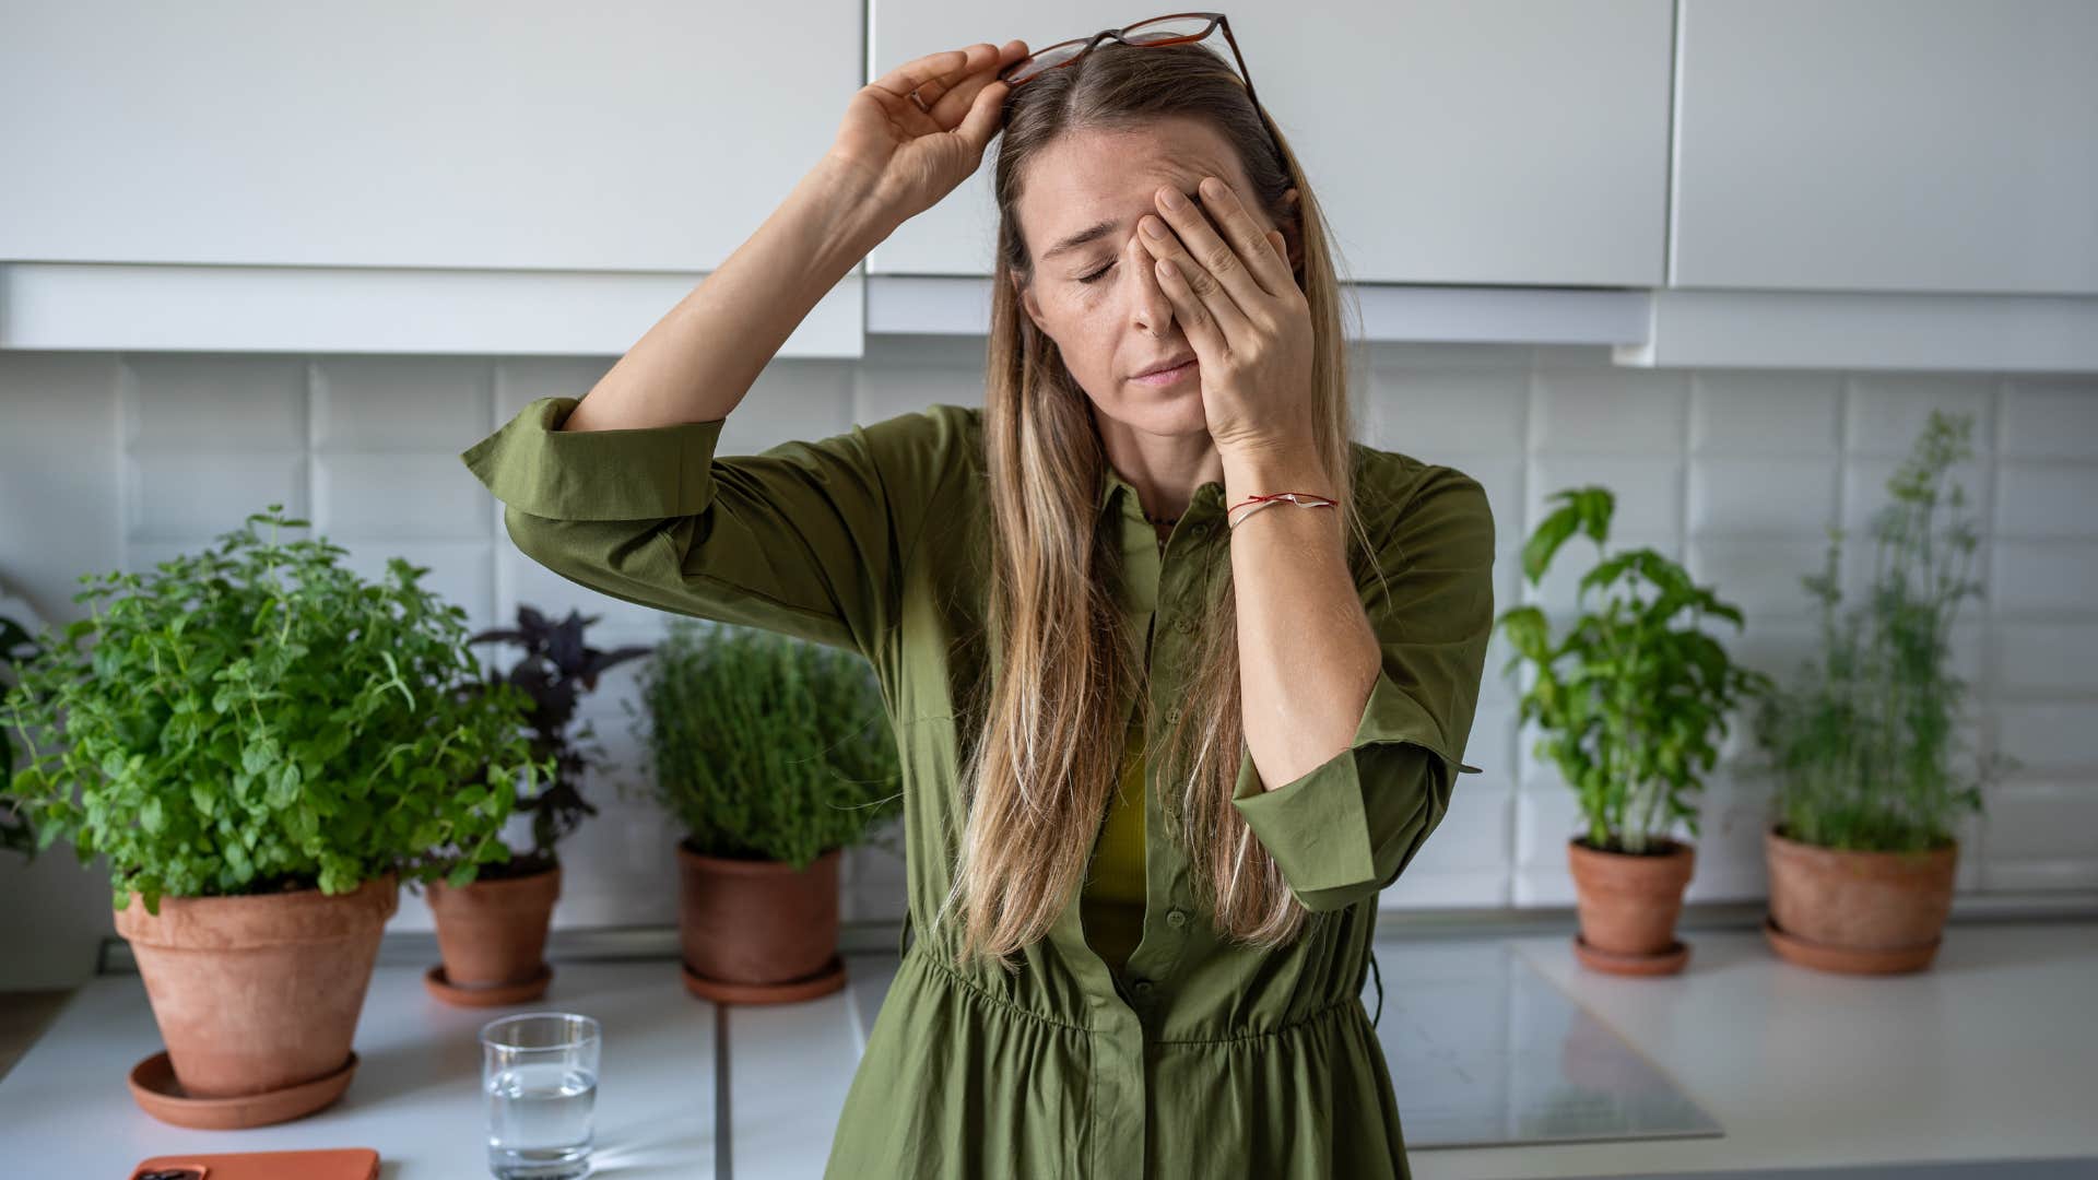
[[562,430],[711,422],[894,225],[829,160],[598,380]]

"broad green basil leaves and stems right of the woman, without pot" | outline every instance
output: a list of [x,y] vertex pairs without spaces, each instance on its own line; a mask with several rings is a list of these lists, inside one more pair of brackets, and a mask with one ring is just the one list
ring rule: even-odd
[[[1645,855],[1680,819],[1699,834],[1689,794],[1718,758],[1727,712],[1771,691],[1769,676],[1741,668],[1699,628],[1714,615],[1741,628],[1741,611],[1651,548],[1605,556],[1615,496],[1578,487],[1550,498],[1559,508],[1523,544],[1523,575],[1538,586],[1553,554],[1576,533],[1597,544],[1597,565],[1580,580],[1582,613],[1559,640],[1540,607],[1513,607],[1498,626],[1515,647],[1506,670],[1536,670],[1521,720],[1536,720],[1536,754],[1550,758],[1580,796],[1586,844]],[[1588,594],[1605,592],[1599,611]],[[1687,617],[1678,624],[1678,615]]]

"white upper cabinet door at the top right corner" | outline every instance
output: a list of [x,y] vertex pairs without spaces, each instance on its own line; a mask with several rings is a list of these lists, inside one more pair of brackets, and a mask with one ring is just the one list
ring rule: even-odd
[[2098,294],[2098,4],[1683,0],[1670,283]]

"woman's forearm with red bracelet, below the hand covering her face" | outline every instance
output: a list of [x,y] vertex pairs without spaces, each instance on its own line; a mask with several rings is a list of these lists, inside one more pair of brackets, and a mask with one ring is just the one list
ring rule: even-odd
[[[1225,454],[1225,506],[1248,496],[1334,496],[1318,458]],[[1280,502],[1232,529],[1246,747],[1276,789],[1355,739],[1380,649],[1347,571],[1341,508]]]

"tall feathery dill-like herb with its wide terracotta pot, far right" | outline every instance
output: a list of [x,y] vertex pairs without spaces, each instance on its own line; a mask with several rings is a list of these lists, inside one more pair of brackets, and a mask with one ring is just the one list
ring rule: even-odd
[[[1953,823],[1983,810],[1983,787],[2016,758],[1953,756],[1966,682],[1951,672],[1951,630],[1970,577],[1976,531],[1949,468],[1972,458],[1972,416],[1932,412],[1871,517],[1874,580],[1861,605],[1842,600],[1842,529],[1829,529],[1819,575],[1800,584],[1821,603],[1819,659],[1756,716],[1756,741],[1777,771],[1764,831],[1771,913],[1764,936],[1790,962],[1853,972],[1924,970],[1951,913],[1960,840]],[[1939,508],[1951,510],[1939,525]]]

